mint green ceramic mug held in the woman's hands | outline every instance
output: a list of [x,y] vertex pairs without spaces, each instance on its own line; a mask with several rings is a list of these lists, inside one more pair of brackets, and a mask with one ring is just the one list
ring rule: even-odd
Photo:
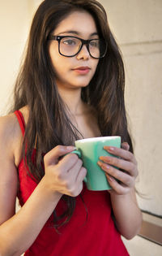
[[87,169],[87,176],[84,181],[89,190],[109,190],[111,189],[109,182],[104,174],[104,171],[98,166],[97,162],[100,156],[112,155],[104,150],[104,145],[121,147],[121,137],[92,137],[75,141],[75,153],[83,161],[83,167]]

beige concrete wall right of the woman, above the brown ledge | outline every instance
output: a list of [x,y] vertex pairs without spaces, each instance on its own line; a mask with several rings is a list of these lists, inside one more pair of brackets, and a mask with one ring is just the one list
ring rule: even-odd
[[100,0],[126,66],[126,109],[139,162],[139,206],[162,215],[162,1]]

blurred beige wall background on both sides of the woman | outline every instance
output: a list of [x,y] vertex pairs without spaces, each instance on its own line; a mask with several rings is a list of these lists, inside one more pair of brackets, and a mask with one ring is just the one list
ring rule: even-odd
[[[23,48],[40,0],[0,0],[0,115],[12,102]],[[162,0],[100,0],[126,68],[126,111],[139,163],[136,188],[143,219],[162,237]],[[131,224],[131,223],[130,223]],[[149,227],[126,247],[132,256],[159,256]],[[151,233],[151,232],[150,232]],[[159,235],[158,235],[159,234]]]

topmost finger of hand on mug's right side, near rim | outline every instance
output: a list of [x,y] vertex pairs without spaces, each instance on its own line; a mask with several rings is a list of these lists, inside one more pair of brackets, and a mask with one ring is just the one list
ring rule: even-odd
[[104,150],[108,151],[109,154],[116,155],[120,158],[123,158],[127,161],[137,164],[137,162],[134,158],[134,154],[132,154],[130,151],[123,150],[123,149],[117,148],[115,146],[107,146],[107,145],[104,146]]

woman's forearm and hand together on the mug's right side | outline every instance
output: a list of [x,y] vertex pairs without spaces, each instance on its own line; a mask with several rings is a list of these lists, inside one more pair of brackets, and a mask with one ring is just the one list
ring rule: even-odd
[[122,143],[122,149],[113,147],[111,150],[111,147],[104,147],[104,150],[120,157],[100,157],[104,163],[99,162],[99,165],[105,171],[112,187],[109,193],[117,229],[126,239],[131,239],[139,232],[142,224],[142,213],[134,192],[135,178],[138,176],[137,162],[134,154],[128,151],[127,143]]

